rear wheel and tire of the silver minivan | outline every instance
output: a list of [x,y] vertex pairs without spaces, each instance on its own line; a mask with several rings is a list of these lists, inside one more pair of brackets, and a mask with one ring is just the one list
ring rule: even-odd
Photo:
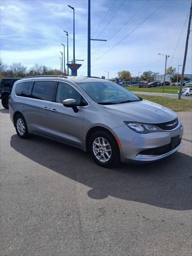
[[28,130],[27,130],[27,124],[25,121],[25,118],[19,114],[15,117],[15,130],[20,138],[26,139],[29,136]]

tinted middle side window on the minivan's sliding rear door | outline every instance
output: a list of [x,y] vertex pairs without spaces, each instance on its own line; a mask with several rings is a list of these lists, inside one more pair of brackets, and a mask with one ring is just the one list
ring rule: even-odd
[[55,81],[36,81],[34,83],[32,98],[39,100],[53,100]]

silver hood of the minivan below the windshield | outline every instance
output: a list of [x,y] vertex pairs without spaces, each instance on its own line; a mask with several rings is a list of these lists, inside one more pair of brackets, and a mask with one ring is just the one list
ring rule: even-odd
[[148,100],[106,105],[107,110],[125,116],[124,121],[141,123],[165,123],[177,118],[170,109]]

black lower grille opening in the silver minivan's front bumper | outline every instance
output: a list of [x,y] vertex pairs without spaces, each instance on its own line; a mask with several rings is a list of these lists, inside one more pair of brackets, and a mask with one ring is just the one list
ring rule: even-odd
[[169,143],[162,147],[143,150],[139,154],[140,155],[163,155],[170,152],[174,148],[177,148],[180,143],[181,143],[181,139],[179,139],[179,142],[174,146],[172,146],[172,143]]

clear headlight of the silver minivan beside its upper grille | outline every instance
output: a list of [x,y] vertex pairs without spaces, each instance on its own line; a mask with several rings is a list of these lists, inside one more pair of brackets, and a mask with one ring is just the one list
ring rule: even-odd
[[124,122],[131,130],[138,133],[150,133],[150,132],[162,132],[162,130],[151,124],[143,124],[143,123],[134,123],[134,122]]

